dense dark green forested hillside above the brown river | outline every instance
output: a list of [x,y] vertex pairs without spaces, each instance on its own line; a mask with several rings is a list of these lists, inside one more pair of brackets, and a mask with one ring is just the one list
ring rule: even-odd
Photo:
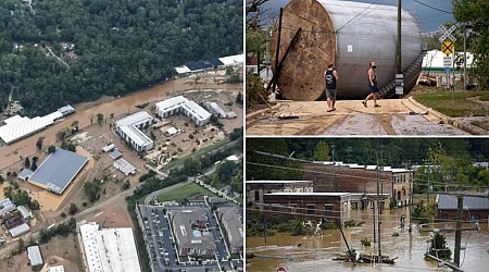
[[28,115],[165,81],[242,52],[241,0],[0,1],[0,109]]

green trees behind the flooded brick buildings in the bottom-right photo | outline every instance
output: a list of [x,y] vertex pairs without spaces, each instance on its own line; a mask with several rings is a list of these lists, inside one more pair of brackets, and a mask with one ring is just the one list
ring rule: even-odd
[[[359,164],[379,163],[393,168],[405,168],[409,162],[419,165],[441,165],[446,172],[431,173],[434,175],[431,181],[456,180],[462,183],[481,185],[488,183],[489,178],[487,170],[473,165],[474,161],[489,161],[489,139],[485,138],[247,139],[248,180],[300,180],[302,166],[298,161],[263,156],[256,151],[293,159],[335,160]],[[263,164],[281,166],[281,169]],[[423,173],[423,171],[419,172]]]

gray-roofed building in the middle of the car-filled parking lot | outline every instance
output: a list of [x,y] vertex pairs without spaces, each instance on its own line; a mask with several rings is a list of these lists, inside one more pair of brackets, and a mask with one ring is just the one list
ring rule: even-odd
[[204,232],[208,218],[202,208],[172,209],[170,214],[180,256],[214,256],[216,245],[212,234]]

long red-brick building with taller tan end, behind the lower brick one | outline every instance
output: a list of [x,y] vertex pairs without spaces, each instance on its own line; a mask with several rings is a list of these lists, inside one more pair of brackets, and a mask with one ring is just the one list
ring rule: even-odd
[[410,170],[376,165],[323,162],[304,164],[304,180],[313,181],[314,191],[377,193],[377,175],[380,194],[388,194],[387,203],[398,207],[410,205]]

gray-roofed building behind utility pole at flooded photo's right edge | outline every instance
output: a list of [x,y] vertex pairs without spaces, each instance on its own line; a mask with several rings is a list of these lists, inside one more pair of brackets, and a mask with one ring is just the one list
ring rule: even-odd
[[[440,221],[455,220],[457,210],[456,196],[437,195],[436,218]],[[462,220],[486,221],[489,219],[489,199],[482,197],[464,197]]]

